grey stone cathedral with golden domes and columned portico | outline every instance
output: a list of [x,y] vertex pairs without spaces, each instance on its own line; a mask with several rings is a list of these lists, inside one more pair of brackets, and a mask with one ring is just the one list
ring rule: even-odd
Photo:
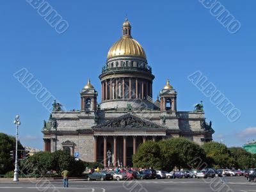
[[132,39],[128,20],[123,29],[99,76],[101,102],[97,102],[98,92],[90,79],[80,93],[80,110],[62,111],[54,102],[42,129],[44,150],[66,150],[74,156],[79,154],[83,161],[105,166],[109,151],[111,164],[131,166],[132,154],[147,140],[182,136],[200,145],[212,140],[214,131],[211,123],[205,122],[202,104],[194,111],[177,111],[177,92],[170,81],[159,97],[152,99],[154,75],[145,51]]

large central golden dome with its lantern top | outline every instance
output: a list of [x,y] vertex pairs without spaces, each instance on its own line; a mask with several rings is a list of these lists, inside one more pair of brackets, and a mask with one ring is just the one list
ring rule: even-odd
[[147,59],[143,47],[131,36],[131,24],[128,19],[125,19],[123,24],[123,36],[112,45],[108,52],[108,59],[116,56],[139,56]]

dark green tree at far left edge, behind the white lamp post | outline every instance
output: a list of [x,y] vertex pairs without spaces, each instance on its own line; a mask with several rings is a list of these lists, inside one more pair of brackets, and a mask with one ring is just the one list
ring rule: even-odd
[[[14,160],[10,158],[10,151],[13,150],[13,154],[15,154],[15,146],[15,137],[0,132],[0,175],[14,170]],[[19,141],[18,149],[24,150]]]

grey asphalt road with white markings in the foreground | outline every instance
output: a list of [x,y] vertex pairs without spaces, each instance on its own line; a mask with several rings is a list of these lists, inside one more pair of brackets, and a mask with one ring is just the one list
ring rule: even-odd
[[0,181],[2,192],[167,192],[167,191],[228,191],[228,192],[256,192],[256,183],[248,182],[244,177],[227,177],[227,182],[221,183],[221,177],[216,179],[163,179],[163,180],[131,180],[131,181],[86,181],[70,180],[69,188],[63,188],[61,180],[49,182],[47,180],[7,182]]

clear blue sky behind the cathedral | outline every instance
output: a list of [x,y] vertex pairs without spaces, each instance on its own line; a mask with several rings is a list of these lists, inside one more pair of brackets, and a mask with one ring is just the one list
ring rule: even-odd
[[[100,92],[100,70],[127,14],[132,36],[143,45],[156,76],[154,98],[169,78],[179,111],[191,111],[204,100],[214,140],[241,146],[255,138],[255,1],[219,1],[241,22],[235,34],[197,0],[47,2],[67,20],[65,33],[56,33],[25,0],[0,3],[0,132],[14,135],[13,118],[19,114],[22,144],[42,149],[49,111],[13,74],[27,68],[65,108],[79,109],[88,77]],[[241,111],[239,120],[230,122],[188,81],[197,70]]]

